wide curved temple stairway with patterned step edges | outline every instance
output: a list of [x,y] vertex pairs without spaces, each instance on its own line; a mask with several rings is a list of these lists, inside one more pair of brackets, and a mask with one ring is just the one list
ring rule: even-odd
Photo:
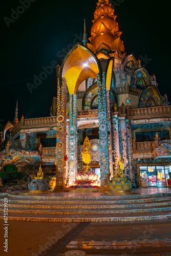
[[54,222],[144,221],[171,218],[171,193],[131,196],[53,197],[0,194],[8,198],[8,219]]

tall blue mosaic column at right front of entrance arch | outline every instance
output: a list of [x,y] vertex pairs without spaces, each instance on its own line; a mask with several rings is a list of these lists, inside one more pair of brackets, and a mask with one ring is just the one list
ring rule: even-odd
[[100,179],[101,185],[108,185],[110,179],[109,170],[109,145],[108,145],[108,119],[107,119],[107,102],[106,102],[106,87],[105,73],[102,74],[102,83],[100,82],[99,74],[97,75],[98,88],[98,114],[99,114],[99,141],[100,141]]

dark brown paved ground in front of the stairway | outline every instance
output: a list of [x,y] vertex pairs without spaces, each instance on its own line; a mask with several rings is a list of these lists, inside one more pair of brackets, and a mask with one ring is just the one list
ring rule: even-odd
[[8,254],[2,248],[3,224],[0,221],[0,255],[59,256],[81,250],[86,255],[171,256],[170,221],[118,224],[9,221]]

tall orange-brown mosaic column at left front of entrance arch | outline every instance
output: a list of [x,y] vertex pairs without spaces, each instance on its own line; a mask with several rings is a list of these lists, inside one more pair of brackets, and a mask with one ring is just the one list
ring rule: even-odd
[[54,190],[61,190],[64,186],[66,172],[66,105],[67,105],[67,82],[62,78],[60,86],[57,83],[57,132],[56,132],[56,186]]

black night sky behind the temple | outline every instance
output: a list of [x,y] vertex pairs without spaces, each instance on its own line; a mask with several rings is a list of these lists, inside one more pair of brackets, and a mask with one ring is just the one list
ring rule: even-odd
[[[27,83],[44,71],[53,60],[61,63],[61,52],[67,53],[73,41],[80,41],[83,18],[90,36],[91,20],[97,0],[59,1],[30,0],[23,14],[11,18],[12,10],[22,12],[23,0],[1,3],[1,100],[0,122],[13,120],[16,100],[18,117],[49,116],[53,96],[56,96],[56,70],[29,92]],[[155,74],[162,95],[170,97],[170,3],[168,0],[111,1],[117,15],[121,39],[127,54],[146,58],[145,68]],[[3,6],[4,5],[4,6]],[[8,26],[7,26],[8,23]],[[66,50],[68,49],[68,50]],[[61,51],[61,52],[60,52]],[[57,57],[58,54],[58,57]],[[65,53],[64,53],[65,54]],[[145,64],[142,61],[142,64]]]

